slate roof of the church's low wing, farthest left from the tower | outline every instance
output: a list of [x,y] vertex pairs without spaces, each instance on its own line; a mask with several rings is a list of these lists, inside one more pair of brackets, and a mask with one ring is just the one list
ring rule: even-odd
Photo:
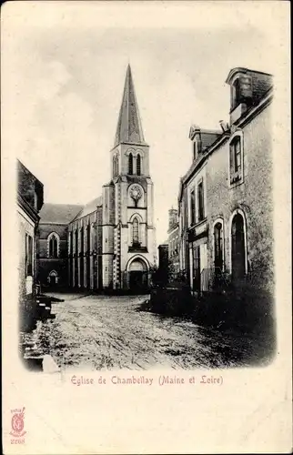
[[39,212],[40,223],[55,223],[67,225],[76,217],[82,206],[73,204],[51,204],[43,205]]

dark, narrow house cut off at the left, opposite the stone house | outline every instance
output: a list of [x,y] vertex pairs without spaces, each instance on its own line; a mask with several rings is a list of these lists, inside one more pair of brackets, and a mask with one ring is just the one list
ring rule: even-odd
[[17,177],[20,329],[29,330],[35,322],[37,227],[44,187],[20,161],[17,161]]

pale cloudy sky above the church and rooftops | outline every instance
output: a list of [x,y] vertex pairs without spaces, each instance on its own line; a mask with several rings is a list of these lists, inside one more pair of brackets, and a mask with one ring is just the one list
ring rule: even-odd
[[190,126],[219,129],[219,120],[228,121],[231,68],[274,74],[274,2],[270,9],[266,2],[13,3],[2,11],[9,153],[44,183],[45,202],[99,196],[110,179],[129,63],[162,243],[192,162]]

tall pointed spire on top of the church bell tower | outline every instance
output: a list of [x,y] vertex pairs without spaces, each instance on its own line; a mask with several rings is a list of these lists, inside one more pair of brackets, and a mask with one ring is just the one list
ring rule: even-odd
[[127,66],[126,71],[126,82],[116,128],[114,147],[123,142],[146,144],[139,117],[130,65]]

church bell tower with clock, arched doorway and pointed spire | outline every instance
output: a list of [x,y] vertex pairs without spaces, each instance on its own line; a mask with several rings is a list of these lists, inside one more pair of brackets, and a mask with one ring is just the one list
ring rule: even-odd
[[141,125],[129,65],[110,156],[115,200],[113,287],[132,288],[138,292],[149,285],[149,272],[156,261],[157,248],[149,146]]

